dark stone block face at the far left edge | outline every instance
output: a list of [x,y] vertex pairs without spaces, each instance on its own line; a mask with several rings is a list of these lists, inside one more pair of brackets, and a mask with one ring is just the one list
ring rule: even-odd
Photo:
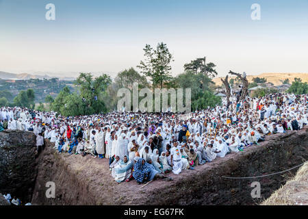
[[36,180],[36,136],[30,131],[0,132],[0,192],[31,201]]

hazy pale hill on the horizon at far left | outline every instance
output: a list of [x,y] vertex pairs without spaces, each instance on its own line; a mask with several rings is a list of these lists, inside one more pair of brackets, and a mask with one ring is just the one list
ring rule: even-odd
[[[73,81],[75,80],[75,78],[73,77],[58,77],[58,76],[55,76],[57,77],[58,79],[61,79],[61,80],[65,80],[65,81]],[[31,74],[28,74],[28,73],[21,73],[21,74],[14,74],[14,73],[6,73],[6,72],[3,72],[3,71],[0,71],[0,79],[5,79],[5,80],[8,80],[8,79],[23,79],[23,80],[28,80],[28,79],[51,79],[51,78],[54,78],[54,77],[50,77],[49,75],[31,75]]]

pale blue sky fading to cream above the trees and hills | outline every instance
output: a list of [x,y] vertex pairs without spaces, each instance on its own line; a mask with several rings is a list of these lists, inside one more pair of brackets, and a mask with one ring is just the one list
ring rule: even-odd
[[[55,21],[45,19],[47,3]],[[251,19],[253,3],[260,21]],[[218,76],[307,73],[307,39],[306,0],[0,0],[0,71],[9,73],[114,77],[158,42],[174,55],[174,76],[204,56]]]

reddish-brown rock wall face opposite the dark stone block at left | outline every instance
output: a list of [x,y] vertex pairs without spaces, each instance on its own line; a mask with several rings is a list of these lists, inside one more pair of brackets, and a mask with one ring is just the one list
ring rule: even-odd
[[[31,203],[35,205],[97,205],[97,200],[93,198],[94,194],[91,194],[89,190],[91,184],[86,179],[79,178],[77,170],[70,168],[70,157],[64,159],[65,155],[58,154],[53,146],[53,143],[45,140],[45,149],[40,154],[38,177]],[[55,183],[55,198],[46,196],[48,182]]]

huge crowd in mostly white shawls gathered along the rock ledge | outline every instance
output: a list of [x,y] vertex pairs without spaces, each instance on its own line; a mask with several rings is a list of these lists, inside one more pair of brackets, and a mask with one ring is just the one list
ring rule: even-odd
[[44,139],[57,153],[109,159],[115,181],[146,183],[171,179],[168,172],[240,153],[266,136],[303,129],[307,94],[268,94],[260,98],[233,96],[214,108],[190,114],[110,112],[91,116],[61,116],[21,107],[2,107],[0,131],[33,131],[38,153]]

